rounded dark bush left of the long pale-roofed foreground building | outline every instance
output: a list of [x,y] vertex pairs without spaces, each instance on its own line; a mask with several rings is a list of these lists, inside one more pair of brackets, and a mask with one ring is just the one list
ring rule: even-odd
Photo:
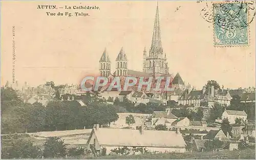
[[49,137],[44,143],[44,157],[63,157],[66,155],[66,145],[57,137]]

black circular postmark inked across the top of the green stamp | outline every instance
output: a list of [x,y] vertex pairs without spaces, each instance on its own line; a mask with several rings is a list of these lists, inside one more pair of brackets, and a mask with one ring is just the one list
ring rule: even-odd
[[202,5],[201,17],[224,30],[246,28],[255,17],[254,1],[197,1]]

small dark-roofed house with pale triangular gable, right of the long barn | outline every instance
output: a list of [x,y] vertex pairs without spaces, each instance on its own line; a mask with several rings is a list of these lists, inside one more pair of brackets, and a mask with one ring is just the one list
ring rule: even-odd
[[[228,136],[228,138],[227,138]],[[224,132],[220,130],[210,130],[207,135],[203,137],[204,140],[220,140],[220,141],[229,141],[229,134],[227,136]]]

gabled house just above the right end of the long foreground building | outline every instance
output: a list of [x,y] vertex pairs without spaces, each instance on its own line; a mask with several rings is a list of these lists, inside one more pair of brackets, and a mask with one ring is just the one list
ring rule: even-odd
[[[156,122],[160,119],[162,119],[162,120],[159,121],[157,124],[165,124],[165,122],[167,121],[168,123],[170,123],[170,125],[172,125],[172,123],[174,121],[176,121],[178,119],[178,117],[176,117],[172,112],[170,112],[170,110],[154,111],[153,116],[152,116],[152,121],[153,121],[152,124],[156,124]],[[162,123],[162,122],[164,122],[164,123]]]

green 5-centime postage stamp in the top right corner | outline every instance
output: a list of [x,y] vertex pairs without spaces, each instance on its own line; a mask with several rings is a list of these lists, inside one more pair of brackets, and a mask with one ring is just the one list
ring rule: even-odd
[[246,3],[213,4],[215,46],[248,45]]

